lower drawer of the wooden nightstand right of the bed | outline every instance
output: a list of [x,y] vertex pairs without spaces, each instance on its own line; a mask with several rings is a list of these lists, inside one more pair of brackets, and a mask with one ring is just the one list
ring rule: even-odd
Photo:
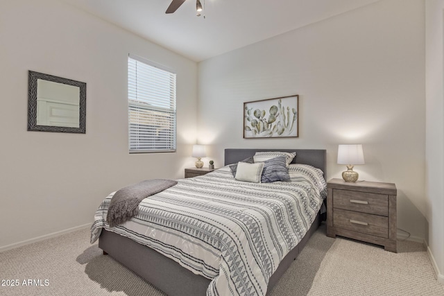
[[388,238],[388,218],[383,216],[335,209],[333,227]]

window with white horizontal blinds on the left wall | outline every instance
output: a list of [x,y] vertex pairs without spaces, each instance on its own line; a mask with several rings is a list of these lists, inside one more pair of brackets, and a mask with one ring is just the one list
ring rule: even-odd
[[128,56],[130,153],[176,151],[176,73]]

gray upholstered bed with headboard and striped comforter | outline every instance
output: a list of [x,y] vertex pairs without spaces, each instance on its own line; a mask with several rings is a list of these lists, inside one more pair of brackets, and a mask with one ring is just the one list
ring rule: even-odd
[[[225,166],[223,168],[204,176],[179,180],[178,185],[146,198],[145,200],[149,199],[146,202],[154,204],[144,204],[144,200],[139,209],[140,207],[145,207],[146,211],[155,211],[153,213],[157,215],[156,207],[158,204],[155,204],[155,202],[162,202],[164,204],[168,200],[171,201],[171,204],[167,206],[171,207],[170,216],[180,214],[181,210],[178,207],[181,206],[184,209],[184,216],[189,218],[191,214],[189,214],[187,207],[200,207],[199,211],[201,212],[205,212],[207,208],[212,207],[212,209],[217,209],[218,212],[222,213],[222,216],[226,216],[230,220],[228,224],[234,223],[234,230],[225,228],[225,226],[220,226],[216,230],[212,229],[214,225],[219,225],[219,220],[211,220],[212,222],[207,224],[207,220],[205,220],[207,218],[199,216],[200,213],[197,222],[194,221],[189,224],[183,222],[187,218],[179,218],[182,219],[183,223],[176,220],[169,221],[168,227],[171,227],[171,229],[165,228],[165,225],[161,225],[159,222],[162,220],[162,223],[164,223],[164,218],[157,216],[152,218],[150,216],[147,219],[154,219],[151,222],[155,224],[155,227],[146,230],[142,228],[141,225],[143,223],[139,219],[140,215],[144,216],[145,212],[142,210],[142,214],[127,223],[117,227],[108,227],[109,225],[106,225],[103,216],[106,214],[106,202],[107,200],[109,202],[112,197],[110,195],[96,212],[96,221],[92,226],[92,241],[99,238],[99,247],[104,254],[109,254],[112,258],[133,270],[137,275],[160,288],[168,295],[266,295],[267,292],[272,290],[287,268],[289,268],[291,262],[296,259],[296,256],[298,256],[311,234],[318,228],[318,225],[321,223],[319,215],[322,207],[321,204],[323,198],[325,198],[325,192],[320,190],[318,193],[321,204],[315,205],[314,202],[311,202],[311,200],[317,199],[311,196],[316,195],[314,194],[315,190],[313,188],[304,189],[309,192],[307,196],[311,198],[303,198],[305,200],[305,202],[301,202],[301,204],[304,204],[303,207],[296,205],[292,206],[291,210],[287,208],[278,209],[277,212],[280,214],[277,217],[266,218],[264,221],[260,220],[258,222],[255,215],[260,211],[264,211],[262,207],[264,206],[262,204],[264,200],[261,200],[260,202],[262,203],[259,205],[252,204],[245,207],[245,204],[241,206],[242,202],[246,202],[244,199],[250,198],[250,193],[251,195],[261,195],[259,198],[262,198],[263,194],[276,190],[273,186],[279,186],[284,188],[284,193],[276,193],[276,196],[278,196],[276,200],[282,200],[285,203],[288,200],[294,199],[287,198],[287,195],[289,195],[287,187],[292,186],[291,190],[293,190],[293,186],[296,186],[293,184],[295,182],[246,184],[247,182],[234,180],[228,165],[237,164],[237,162],[255,155],[256,152],[266,151],[296,152],[296,157],[291,164],[305,164],[320,169],[324,172],[323,182],[325,183],[325,150],[225,149]],[[216,189],[213,190],[216,184],[217,186],[222,186],[217,188],[218,191]],[[308,187],[309,185],[307,185],[307,182],[304,182],[303,186],[298,186]],[[297,194],[302,196],[302,189],[298,188],[297,190]],[[190,191],[193,191],[196,196],[187,196]],[[220,197],[219,192],[221,194]],[[178,198],[180,194],[190,199],[185,200],[184,198],[182,201]],[[198,199],[198,195],[202,195],[200,198],[208,198],[207,195],[212,195],[213,199],[206,199],[207,205],[205,205],[205,199]],[[236,209],[236,204],[225,202],[222,195],[227,195],[228,198],[235,196],[236,198],[233,198],[230,202],[234,202],[234,200],[239,202],[239,209]],[[268,195],[265,198],[268,198]],[[269,200],[267,202],[269,203]],[[273,200],[272,203],[275,204],[274,202],[277,201]],[[162,207],[166,206],[162,205]],[[302,214],[298,214],[296,211],[293,212],[296,207],[303,208],[302,211],[309,216],[307,221],[298,216]],[[316,209],[316,212],[314,212],[314,209]],[[290,212],[291,218],[282,218],[281,214],[283,212]],[[197,214],[193,215],[196,216]],[[264,214],[264,217],[268,217],[267,215]],[[250,222],[248,223],[250,224],[247,223],[249,225],[248,229],[239,230],[239,227],[245,228],[246,226],[242,226],[244,224],[241,225],[241,223],[239,223],[241,226],[237,225],[237,220],[233,220],[234,216],[240,217],[240,220],[249,220]],[[288,223],[289,220],[298,221],[296,224],[300,225],[298,226],[300,230],[295,230],[294,234],[289,234],[288,229],[275,230],[271,226],[270,229],[267,228],[268,226],[264,227],[264,225],[276,224],[273,221],[282,221],[282,219],[285,221],[282,224],[290,224]],[[254,227],[251,226],[252,224]],[[173,227],[176,228],[173,229]],[[260,232],[255,230],[257,228],[261,229]],[[205,233],[203,233],[204,230]],[[137,233],[137,231],[140,233]],[[241,231],[245,231],[245,233]],[[211,237],[210,232],[216,238]],[[265,232],[273,234],[272,238],[265,236]],[[279,232],[279,235],[284,238],[279,238],[280,241],[278,241],[275,232]],[[165,243],[166,233],[177,236],[174,239],[177,240],[180,247],[170,245],[169,241]],[[189,234],[191,238],[188,236]],[[240,243],[241,236],[248,236],[251,245]],[[227,240],[228,243],[226,243]],[[255,245],[256,248],[252,247],[252,245]]]

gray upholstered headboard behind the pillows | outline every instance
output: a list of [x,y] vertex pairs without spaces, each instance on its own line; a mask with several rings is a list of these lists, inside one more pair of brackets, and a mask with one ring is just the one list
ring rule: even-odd
[[309,164],[315,168],[321,168],[324,179],[326,178],[327,150],[324,149],[225,149],[225,166],[253,156],[256,151],[296,152],[292,164]]

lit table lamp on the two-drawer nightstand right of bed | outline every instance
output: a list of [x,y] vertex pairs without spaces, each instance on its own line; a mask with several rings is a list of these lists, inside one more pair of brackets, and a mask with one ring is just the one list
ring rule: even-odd
[[345,164],[348,168],[347,171],[342,173],[343,180],[345,182],[356,182],[359,174],[353,171],[353,166],[355,164],[365,164],[362,144],[339,145],[338,164]]

